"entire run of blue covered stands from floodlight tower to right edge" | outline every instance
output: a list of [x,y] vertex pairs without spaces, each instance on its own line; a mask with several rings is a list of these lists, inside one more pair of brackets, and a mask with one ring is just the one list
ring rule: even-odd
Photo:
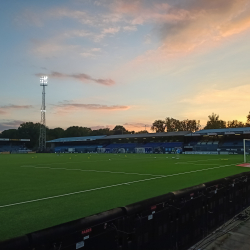
[[[242,154],[243,139],[250,139],[250,127],[205,129],[195,133],[189,131],[122,134],[59,138],[48,141],[52,152],[67,152],[75,148],[76,152],[135,153],[144,148],[144,153],[174,153],[177,148],[188,152],[217,152],[218,154]],[[250,148],[250,143],[247,142]],[[124,149],[124,150],[120,150]],[[142,150],[140,150],[142,152]]]

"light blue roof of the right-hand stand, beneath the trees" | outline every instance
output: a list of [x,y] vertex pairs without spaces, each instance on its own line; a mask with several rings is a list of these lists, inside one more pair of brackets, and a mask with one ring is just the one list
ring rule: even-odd
[[220,129],[203,129],[195,133],[189,133],[186,136],[202,136],[202,135],[239,135],[250,134],[250,127],[244,128],[220,128]]

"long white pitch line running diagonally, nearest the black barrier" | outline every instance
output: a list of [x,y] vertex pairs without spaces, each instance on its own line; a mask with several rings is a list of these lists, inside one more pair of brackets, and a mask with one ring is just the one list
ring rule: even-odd
[[[236,164],[238,164],[238,163],[236,163]],[[109,185],[109,186],[104,186],[104,187],[99,187],[99,188],[92,188],[92,189],[77,191],[77,192],[68,193],[68,194],[60,194],[60,195],[55,195],[55,196],[50,196],[50,197],[45,197],[45,198],[40,198],[40,199],[35,199],[35,200],[22,201],[22,202],[7,204],[7,205],[1,205],[0,208],[11,207],[11,206],[16,206],[16,205],[22,205],[22,204],[27,204],[27,203],[33,203],[33,202],[49,200],[49,199],[55,199],[55,198],[60,198],[60,197],[70,196],[70,195],[75,195],[75,194],[80,194],[80,193],[87,193],[87,192],[92,192],[92,191],[101,190],[101,189],[107,189],[107,188],[111,188],[111,187],[130,185],[130,184],[139,183],[139,182],[143,182],[143,181],[151,181],[151,180],[162,179],[162,178],[172,177],[172,176],[177,176],[177,175],[182,175],[182,174],[191,174],[191,173],[195,173],[195,172],[207,171],[207,170],[212,170],[212,169],[217,169],[217,168],[224,168],[224,167],[228,167],[228,166],[232,166],[232,165],[235,165],[235,164],[224,165],[224,166],[219,166],[219,167],[214,167],[214,168],[206,168],[206,169],[194,170],[194,171],[178,173],[178,174],[172,174],[172,175],[166,175],[166,176],[159,176],[159,177],[155,177],[155,178],[149,178],[149,179],[138,180],[138,181],[124,182],[124,183],[119,183],[119,184],[114,184],[114,185]]]

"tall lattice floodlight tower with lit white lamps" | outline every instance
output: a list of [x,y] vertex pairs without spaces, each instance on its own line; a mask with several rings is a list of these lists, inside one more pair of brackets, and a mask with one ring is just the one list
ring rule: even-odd
[[46,150],[46,106],[45,106],[45,87],[48,85],[48,76],[40,78],[40,86],[43,87],[42,93],[42,107],[41,107],[41,123],[40,123],[40,136],[39,136],[39,151],[45,152]]

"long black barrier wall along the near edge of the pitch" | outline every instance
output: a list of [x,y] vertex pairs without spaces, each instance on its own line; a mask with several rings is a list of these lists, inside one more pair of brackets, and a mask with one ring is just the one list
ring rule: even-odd
[[185,250],[250,206],[250,172],[0,243],[1,250]]

